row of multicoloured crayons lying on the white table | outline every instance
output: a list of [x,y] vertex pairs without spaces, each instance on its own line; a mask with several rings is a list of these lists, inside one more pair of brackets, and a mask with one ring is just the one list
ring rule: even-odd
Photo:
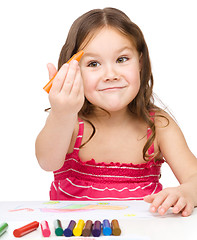
[[[34,230],[36,230],[39,225],[41,226],[41,231],[43,237],[50,237],[51,230],[49,228],[49,224],[47,221],[42,221],[41,223],[34,221],[31,222],[21,228],[15,229],[13,231],[13,235],[15,237],[22,237]],[[8,228],[7,223],[3,223],[0,225],[0,236],[5,233]],[[54,230],[56,236],[84,236],[89,237],[91,234],[93,237],[99,237],[101,232],[103,232],[104,236],[119,236],[121,234],[121,229],[118,223],[118,220],[114,219],[111,221],[111,224],[108,219],[104,219],[101,223],[99,220],[94,223],[91,220],[80,219],[77,223],[74,220],[71,220],[66,229],[62,228],[62,224],[60,220],[54,221]]]

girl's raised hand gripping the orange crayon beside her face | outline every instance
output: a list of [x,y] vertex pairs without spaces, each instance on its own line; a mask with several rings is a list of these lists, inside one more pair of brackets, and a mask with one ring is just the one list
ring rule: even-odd
[[51,111],[59,115],[77,114],[84,103],[82,77],[78,62],[64,64],[57,72],[53,64],[48,64],[49,78],[55,74],[53,85],[49,92]]

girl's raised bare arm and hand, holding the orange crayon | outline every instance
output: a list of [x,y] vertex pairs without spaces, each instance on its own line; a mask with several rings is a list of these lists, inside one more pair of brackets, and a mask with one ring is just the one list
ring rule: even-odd
[[[50,70],[53,68],[53,70]],[[49,72],[54,67],[49,67]],[[51,111],[36,139],[36,157],[46,171],[62,167],[84,102],[83,84],[77,61],[64,64],[49,92]]]

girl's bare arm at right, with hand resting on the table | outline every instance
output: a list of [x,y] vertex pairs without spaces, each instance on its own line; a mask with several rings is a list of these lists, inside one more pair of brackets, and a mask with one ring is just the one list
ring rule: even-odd
[[189,150],[185,138],[172,118],[169,125],[164,126],[164,120],[157,124],[157,141],[160,150],[178,179],[180,186],[166,188],[161,192],[145,197],[151,203],[150,210],[163,215],[173,207],[174,213],[182,212],[189,216],[197,206],[197,159]]

